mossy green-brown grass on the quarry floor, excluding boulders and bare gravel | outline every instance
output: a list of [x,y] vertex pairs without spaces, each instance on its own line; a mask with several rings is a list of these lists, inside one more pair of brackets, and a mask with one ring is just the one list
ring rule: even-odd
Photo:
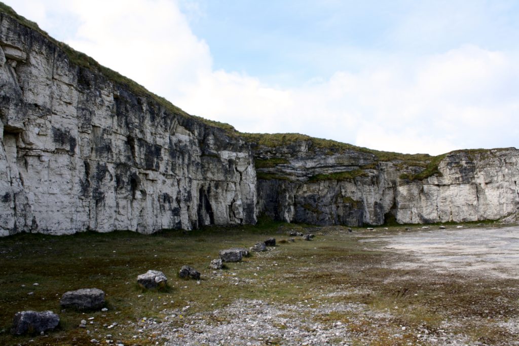
[[[311,242],[301,239],[286,242],[292,229],[318,235]],[[474,342],[507,344],[513,337],[505,329],[488,323],[482,326],[474,319],[517,318],[517,280],[391,269],[391,263],[405,255],[382,251],[376,242],[360,243],[364,232],[269,223],[260,227],[169,231],[155,235],[113,232],[71,236],[20,234],[3,238],[0,239],[3,263],[0,344],[86,344],[92,338],[104,341],[108,333],[126,345],[155,344],[160,336],[146,336],[138,342],[133,339],[138,334],[135,323],[143,317],[160,321],[167,310],[182,311],[189,305],[183,312],[187,317],[225,307],[240,298],[290,304],[305,300],[309,304],[354,302],[397,316],[385,322],[387,328],[375,329],[354,322],[348,314],[312,317],[321,322],[343,321],[359,340],[376,333],[373,340],[380,341],[372,344],[414,343],[417,339],[413,334],[404,335],[401,342],[396,342],[388,330],[404,325],[409,330],[427,326],[434,332],[441,328],[442,322],[453,319],[467,321],[458,328]],[[222,273],[208,269],[218,250],[250,247],[270,236],[277,238],[275,250],[244,258],[241,263],[228,263]],[[184,264],[202,273],[199,283],[177,277]],[[165,291],[143,291],[136,285],[136,276],[148,269],[167,275],[169,287]],[[107,312],[60,312],[59,298],[65,291],[89,287],[106,292]],[[337,292],[348,294],[337,295]],[[21,310],[57,312],[60,327],[43,337],[11,336],[8,329],[12,316]],[[78,327],[88,317],[94,317],[93,324],[87,328],[90,334]],[[184,317],[177,318],[179,326],[182,325]],[[114,322],[118,326],[107,329]]]

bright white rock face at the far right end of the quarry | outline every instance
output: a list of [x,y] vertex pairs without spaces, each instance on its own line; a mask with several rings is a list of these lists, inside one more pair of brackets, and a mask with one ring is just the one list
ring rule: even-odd
[[519,151],[457,152],[440,162],[443,176],[399,185],[402,223],[497,220],[517,215]]

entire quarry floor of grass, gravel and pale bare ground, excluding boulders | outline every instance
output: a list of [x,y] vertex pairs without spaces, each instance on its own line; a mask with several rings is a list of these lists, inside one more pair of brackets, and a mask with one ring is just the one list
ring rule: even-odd
[[[264,223],[6,237],[0,344],[519,345],[519,228],[495,226],[348,232]],[[218,250],[268,237],[277,239],[268,251],[208,268]],[[201,280],[180,279],[184,264]],[[139,288],[136,276],[148,269],[163,271],[168,288]],[[106,292],[108,311],[61,311],[65,291],[88,287]],[[21,310],[59,313],[60,327],[11,336]]]

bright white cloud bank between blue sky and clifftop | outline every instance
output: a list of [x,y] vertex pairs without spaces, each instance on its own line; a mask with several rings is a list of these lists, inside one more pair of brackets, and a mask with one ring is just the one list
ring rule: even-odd
[[[52,2],[43,3],[31,10],[42,26],[56,16]],[[13,6],[20,11],[23,4]],[[412,59],[371,56],[358,72],[337,71],[283,89],[261,76],[214,70],[208,45],[190,30],[176,2],[75,0],[60,6],[60,14],[77,18],[67,43],[187,112],[241,131],[301,132],[431,154],[511,146],[519,134],[519,69],[510,52],[463,45]]]

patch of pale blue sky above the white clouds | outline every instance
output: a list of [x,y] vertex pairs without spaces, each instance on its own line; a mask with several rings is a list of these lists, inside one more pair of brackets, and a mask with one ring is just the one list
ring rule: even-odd
[[[184,4],[184,6],[182,6]],[[370,60],[413,59],[473,44],[515,49],[519,2],[200,1],[181,3],[214,67],[305,83]],[[278,79],[279,78],[279,79]]]

